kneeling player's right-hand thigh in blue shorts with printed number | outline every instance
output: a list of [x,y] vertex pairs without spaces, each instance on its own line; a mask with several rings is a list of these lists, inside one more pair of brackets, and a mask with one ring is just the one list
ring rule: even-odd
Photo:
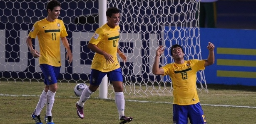
[[204,111],[200,103],[189,105],[189,120],[191,124],[206,124]]

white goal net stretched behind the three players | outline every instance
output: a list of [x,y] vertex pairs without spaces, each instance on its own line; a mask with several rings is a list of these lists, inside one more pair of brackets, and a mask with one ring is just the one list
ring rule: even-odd
[[[59,19],[65,23],[73,53],[73,62],[65,60],[61,44],[62,67],[60,83],[89,82],[94,52],[87,44],[99,27],[100,0],[59,0],[62,5]],[[26,45],[32,25],[47,16],[47,0],[0,1],[0,81],[42,82],[38,59],[32,57]],[[173,62],[171,45],[184,47],[185,58],[201,59],[199,20],[196,0],[107,0],[107,7],[118,7],[121,12],[119,48],[127,55],[120,65],[126,96],[171,95],[168,76],[152,74],[155,50],[164,45],[161,65]],[[33,41],[39,50],[37,38]],[[204,72],[197,74],[197,89],[207,91]],[[108,83],[108,97],[114,96]]]

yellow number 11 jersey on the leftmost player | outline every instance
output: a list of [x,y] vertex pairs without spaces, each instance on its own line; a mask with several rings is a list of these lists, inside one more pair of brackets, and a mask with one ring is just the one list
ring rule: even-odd
[[60,67],[60,38],[67,36],[67,31],[62,20],[55,19],[50,22],[42,19],[35,22],[30,33],[31,38],[38,38],[40,46],[39,63]]

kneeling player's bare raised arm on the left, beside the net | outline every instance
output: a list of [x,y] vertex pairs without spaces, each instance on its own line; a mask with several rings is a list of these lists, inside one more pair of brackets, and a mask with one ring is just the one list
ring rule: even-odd
[[157,48],[156,57],[155,57],[154,64],[153,64],[153,67],[152,67],[152,73],[155,74],[155,75],[162,75],[162,74],[164,74],[164,69],[163,68],[159,68],[160,55],[162,55],[163,52],[164,52],[164,46],[160,45]]

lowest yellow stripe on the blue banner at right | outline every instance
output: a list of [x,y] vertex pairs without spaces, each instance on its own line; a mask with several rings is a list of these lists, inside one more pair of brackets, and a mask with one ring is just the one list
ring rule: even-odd
[[220,70],[217,70],[217,76],[256,79],[256,72],[220,71]]

